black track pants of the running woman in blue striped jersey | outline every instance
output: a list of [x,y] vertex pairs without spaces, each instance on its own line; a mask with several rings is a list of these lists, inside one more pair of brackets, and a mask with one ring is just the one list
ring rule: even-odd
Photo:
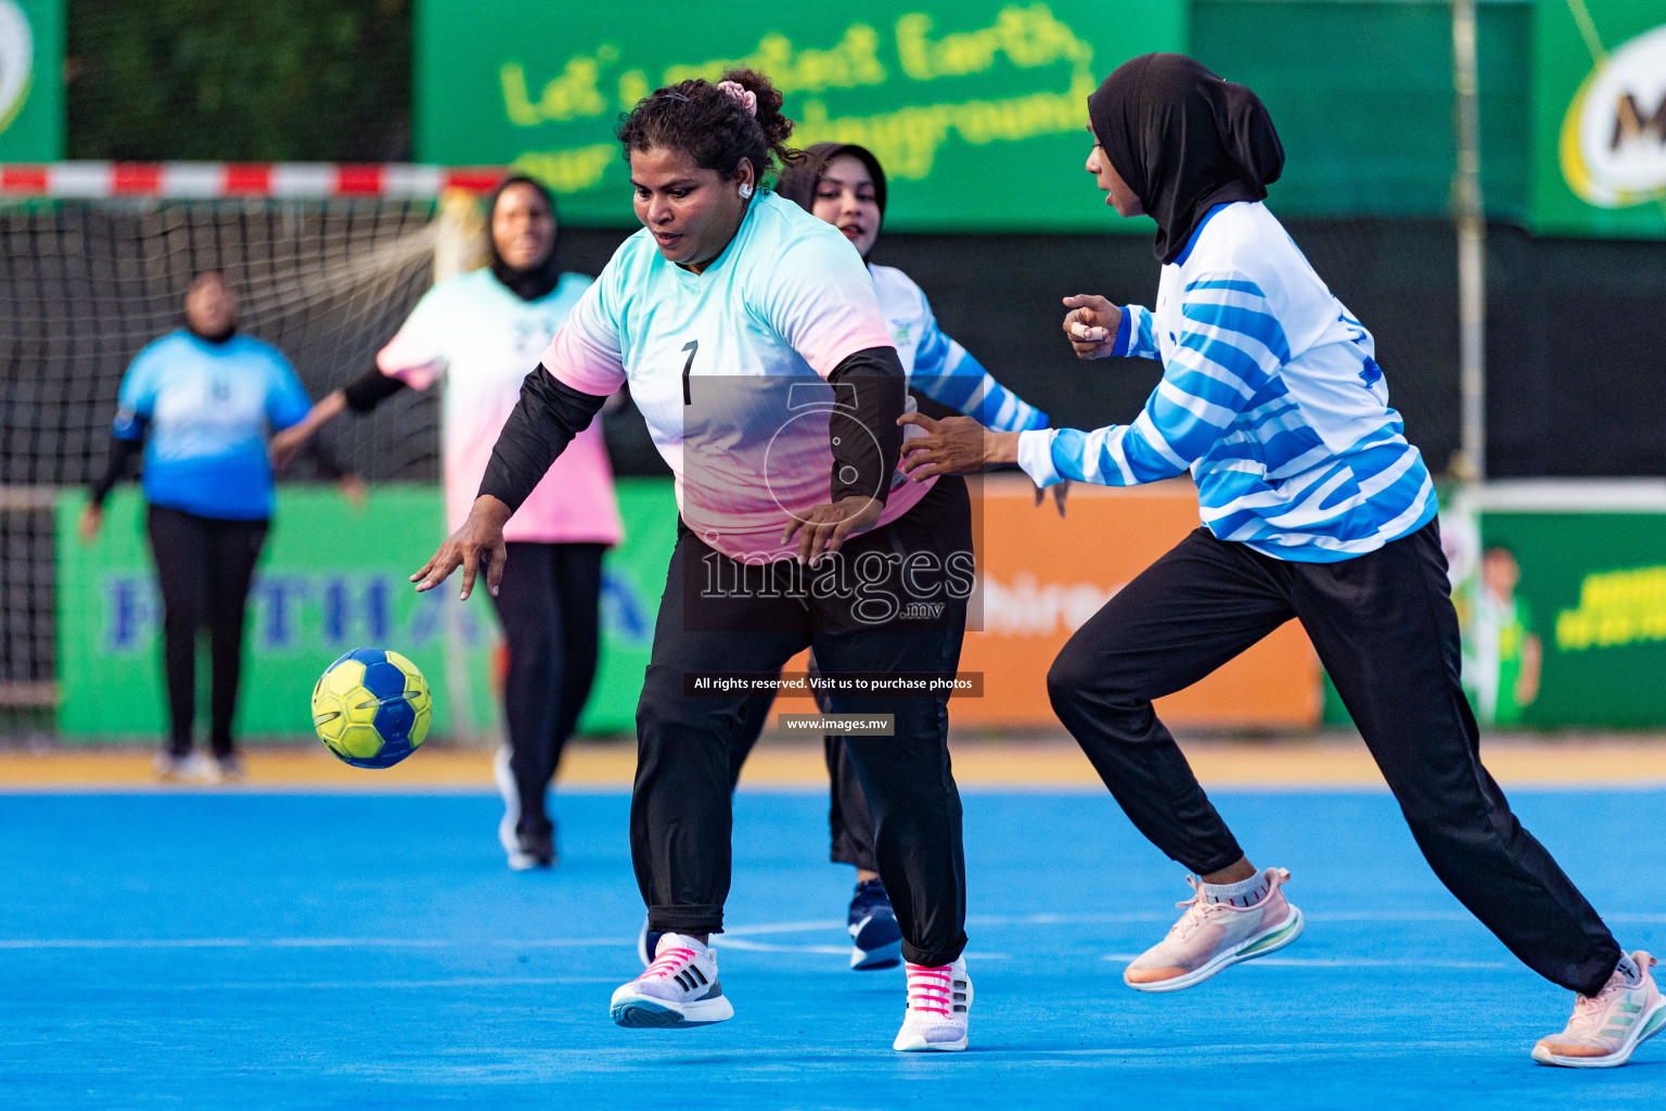
[[1151,700],[1289,618],[1441,883],[1533,971],[1594,994],[1619,946],[1481,766],[1434,521],[1339,563],[1273,560],[1200,528],[1070,638],[1048,673],[1053,710],[1141,833],[1186,868],[1218,871],[1243,851]]

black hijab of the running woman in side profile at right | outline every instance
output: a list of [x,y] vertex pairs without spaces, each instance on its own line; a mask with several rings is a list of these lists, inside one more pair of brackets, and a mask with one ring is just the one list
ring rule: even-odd
[[1088,97],[1111,168],[1156,220],[1158,262],[1180,258],[1215,205],[1264,200],[1284,147],[1261,98],[1183,53],[1146,53]]

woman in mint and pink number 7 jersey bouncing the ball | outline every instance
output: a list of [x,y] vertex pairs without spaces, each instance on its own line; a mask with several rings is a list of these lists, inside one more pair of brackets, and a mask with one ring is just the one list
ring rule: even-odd
[[[413,580],[503,573],[503,521],[626,381],[676,475],[681,528],[636,708],[631,859],[663,936],[613,993],[621,1026],[733,1014],[710,934],[730,883],[730,746],[745,690],[813,648],[853,691],[871,676],[953,673],[973,586],[963,480],[896,473],[906,375],[861,257],[761,188],[791,122],[768,78],[733,70],[661,88],[620,127],[636,217],[521,390],[468,521]],[[513,565],[513,555],[508,556]],[[928,605],[911,605],[928,603]],[[866,678],[865,678],[866,676]],[[900,1051],[963,1049],[971,983],[948,696],[840,693],[891,733],[846,751],[908,961]],[[853,723],[855,730],[855,723]]]

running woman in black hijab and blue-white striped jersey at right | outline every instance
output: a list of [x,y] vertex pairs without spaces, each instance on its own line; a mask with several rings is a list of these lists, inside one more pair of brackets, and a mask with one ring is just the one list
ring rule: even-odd
[[1081,358],[1163,361],[1131,425],[930,430],[915,478],[1016,461],[1038,483],[1115,486],[1191,470],[1203,526],[1123,588],[1048,673],[1053,708],[1128,816],[1198,873],[1195,898],[1123,979],[1176,991],[1289,944],[1301,913],[1258,871],[1151,701],[1291,618],[1306,628],[1441,881],[1523,963],[1579,993],[1546,1064],[1623,1064],[1666,1026],[1654,959],[1624,954],[1481,766],[1434,486],[1401,433],[1371,333],[1261,203],[1283,168],[1253,92],[1191,58],[1125,63],[1088,100],[1088,172],[1123,217],[1156,220],[1155,310],[1066,298]]

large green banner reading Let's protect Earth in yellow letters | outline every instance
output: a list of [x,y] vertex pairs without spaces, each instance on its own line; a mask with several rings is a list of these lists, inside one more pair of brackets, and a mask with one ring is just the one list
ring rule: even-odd
[[416,153],[515,163],[561,195],[563,218],[630,227],[620,113],[660,85],[748,65],[785,93],[795,145],[878,155],[891,228],[1148,233],[1083,172],[1086,97],[1120,62],[1185,43],[1185,0],[420,0]]

